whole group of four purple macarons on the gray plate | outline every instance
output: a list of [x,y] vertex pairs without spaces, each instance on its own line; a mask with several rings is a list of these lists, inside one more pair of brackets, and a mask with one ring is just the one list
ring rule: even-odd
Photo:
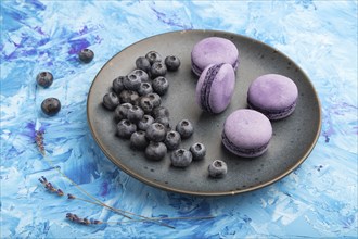
[[[233,42],[219,37],[199,41],[192,52],[192,71],[200,76],[196,102],[203,111],[218,114],[230,104],[235,87],[239,51]],[[222,144],[243,158],[264,154],[272,137],[270,121],[293,113],[298,98],[295,83],[282,75],[259,76],[248,87],[247,105],[231,113],[222,130]]]

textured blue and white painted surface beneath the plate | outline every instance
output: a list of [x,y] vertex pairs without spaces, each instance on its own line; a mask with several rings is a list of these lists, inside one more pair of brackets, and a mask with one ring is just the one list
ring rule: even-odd
[[[357,237],[357,1],[1,1],[1,238],[302,238]],[[261,190],[197,198],[149,187],[119,171],[93,141],[86,120],[91,81],[125,47],[156,34],[222,29],[290,55],[322,103],[322,131],[307,161]],[[90,47],[94,61],[76,53]],[[55,80],[36,86],[40,71]],[[40,103],[63,108],[47,117]],[[115,207],[144,216],[216,215],[208,221],[82,226],[67,212],[104,222],[123,217],[47,192],[81,193],[39,154],[35,130],[56,167]],[[82,196],[81,198],[85,198]]]

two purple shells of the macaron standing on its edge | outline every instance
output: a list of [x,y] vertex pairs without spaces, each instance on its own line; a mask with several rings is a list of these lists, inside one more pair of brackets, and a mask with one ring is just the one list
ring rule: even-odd
[[[203,106],[204,102],[202,102],[203,85],[206,80],[209,79],[208,71],[214,66],[214,64],[209,64],[207,67],[205,67],[196,84],[195,99],[196,103],[203,110],[205,110],[205,108]],[[231,98],[234,92],[234,87],[235,74],[233,72],[232,66],[230,64],[222,64],[216,76],[214,76],[214,80],[209,88],[208,103],[212,110],[210,113],[218,114],[225,109],[227,109],[227,106],[231,102]]]

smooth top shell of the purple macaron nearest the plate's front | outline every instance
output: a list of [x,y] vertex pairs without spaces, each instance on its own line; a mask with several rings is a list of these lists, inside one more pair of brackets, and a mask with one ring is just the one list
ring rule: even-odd
[[238,110],[231,113],[223,125],[223,134],[242,150],[263,148],[272,137],[270,121],[254,110]]

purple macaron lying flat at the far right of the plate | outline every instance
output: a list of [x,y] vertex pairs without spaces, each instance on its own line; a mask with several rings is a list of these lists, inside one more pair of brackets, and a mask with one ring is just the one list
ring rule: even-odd
[[292,79],[268,74],[250,85],[247,104],[274,121],[291,115],[296,108],[297,98],[298,89]]

